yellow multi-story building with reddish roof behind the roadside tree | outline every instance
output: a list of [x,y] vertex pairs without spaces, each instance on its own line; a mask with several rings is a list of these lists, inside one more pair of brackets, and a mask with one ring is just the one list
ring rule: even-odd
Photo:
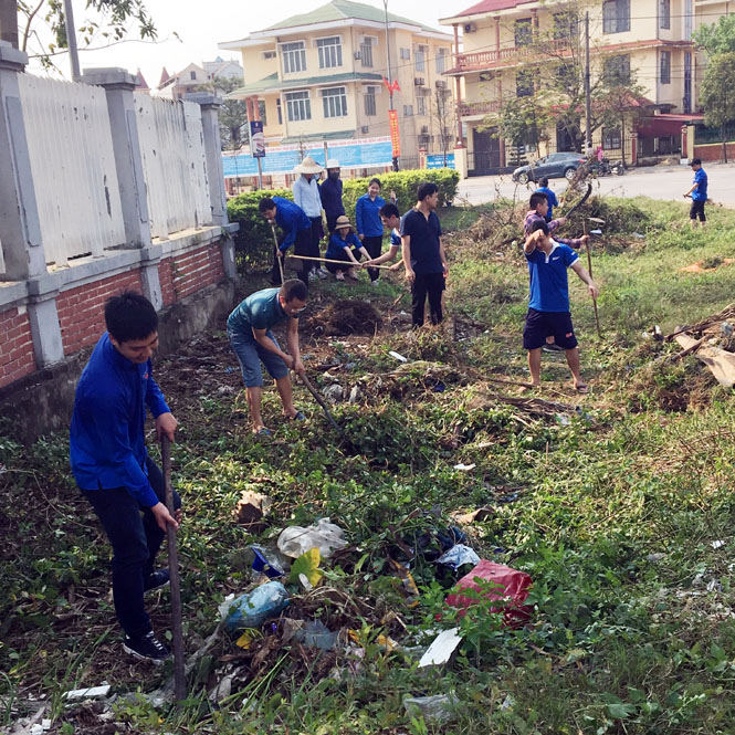
[[[676,155],[682,125],[697,119],[696,83],[704,60],[696,54],[692,33],[702,23],[716,22],[729,6],[735,10],[735,2],[712,0],[482,0],[440,20],[453,28],[455,46],[461,45],[447,76],[455,78],[470,172],[493,172],[517,157],[517,150],[486,127],[487,116],[501,112],[508,95],[533,95],[543,86],[544,64],[549,74],[557,73],[565,55],[575,53],[567,49],[570,34],[578,39],[584,32],[587,12],[592,76],[611,67],[618,74],[630,72],[645,112],[629,130],[597,129],[594,144],[611,156],[622,155],[624,146],[628,160]],[[577,53],[579,48],[577,43]],[[524,67],[532,61],[542,61],[536,66],[542,71],[529,80]],[[580,118],[584,125],[584,114]],[[560,126],[545,138],[543,153],[578,148],[578,140]]]

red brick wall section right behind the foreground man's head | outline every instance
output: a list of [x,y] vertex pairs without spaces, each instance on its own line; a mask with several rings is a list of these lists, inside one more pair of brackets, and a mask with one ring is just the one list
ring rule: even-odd
[[97,340],[105,330],[105,302],[127,290],[143,293],[140,269],[59,294],[56,308],[64,355],[72,355]]

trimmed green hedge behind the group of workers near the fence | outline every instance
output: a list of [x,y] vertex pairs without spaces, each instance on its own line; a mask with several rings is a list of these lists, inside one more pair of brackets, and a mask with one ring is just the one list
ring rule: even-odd
[[[343,202],[345,212],[355,222],[355,203],[368,187],[372,177],[364,179],[350,179],[345,181]],[[416,190],[422,181],[433,181],[439,187],[439,206],[451,204],[456,196],[456,187],[460,175],[447,168],[418,169],[413,171],[390,171],[378,176],[382,183],[385,199],[391,189],[398,197],[398,208],[401,212],[408,211],[416,203]],[[275,189],[272,191],[249,191],[241,193],[228,201],[228,217],[230,222],[239,222],[240,231],[234,239],[235,259],[238,270],[242,273],[263,271],[270,267],[273,259],[273,233],[271,225],[260,216],[258,202],[263,197],[283,197],[293,200],[293,195],[287,189]],[[279,242],[283,239],[281,231]]]

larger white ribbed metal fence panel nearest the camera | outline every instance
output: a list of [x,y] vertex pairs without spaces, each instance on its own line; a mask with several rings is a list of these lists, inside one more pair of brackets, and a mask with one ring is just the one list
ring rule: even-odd
[[103,255],[125,242],[105,91],[18,81],[46,262]]

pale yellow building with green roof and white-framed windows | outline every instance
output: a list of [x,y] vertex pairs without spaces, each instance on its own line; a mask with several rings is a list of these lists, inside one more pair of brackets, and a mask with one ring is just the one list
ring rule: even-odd
[[452,64],[449,33],[333,0],[219,48],[242,54],[244,86],[230,96],[260,108],[266,145],[388,136],[384,78],[391,77],[400,87],[392,102],[402,167],[416,165],[420,149],[454,147],[455,105],[443,76]]

